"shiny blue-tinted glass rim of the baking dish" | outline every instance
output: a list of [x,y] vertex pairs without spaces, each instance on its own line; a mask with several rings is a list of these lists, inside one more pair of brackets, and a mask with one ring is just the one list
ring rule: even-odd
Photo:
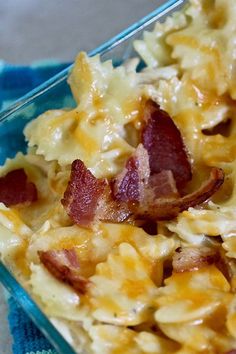
[[[90,51],[88,55],[102,55],[106,52],[111,51],[112,49],[114,49],[119,44],[123,43],[136,33],[142,31],[144,27],[157,21],[166,13],[174,10],[179,5],[183,5],[185,2],[186,0],[166,1],[162,5],[158,6],[154,11],[141,18],[139,21],[135,22],[116,36],[112,37],[110,40],[104,42],[100,46]],[[8,108],[0,111],[0,125],[5,120],[9,119],[11,115],[32,103],[37,97],[45,94],[50,89],[53,89],[56,85],[59,85],[61,82],[63,82],[67,78],[72,66],[73,64],[69,65],[66,69],[53,76],[51,79],[45,81],[43,84],[37,86],[35,89],[31,90],[26,95],[17,99]],[[75,354],[74,349],[72,349],[70,344],[53,326],[53,324],[49,321],[43,311],[41,311],[36,302],[31,298],[28,292],[21,286],[21,284],[16,280],[16,278],[11,274],[11,272],[7,269],[7,267],[2,263],[1,260],[0,282],[8,290],[10,295],[15,298],[20,307],[25,311],[26,315],[30,317],[34,324],[45,335],[48,341],[56,349],[58,354]]]

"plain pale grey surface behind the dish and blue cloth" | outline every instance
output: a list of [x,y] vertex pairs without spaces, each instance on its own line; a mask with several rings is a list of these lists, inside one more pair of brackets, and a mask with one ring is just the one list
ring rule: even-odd
[[[164,0],[0,0],[0,60],[72,61],[147,15]],[[0,287],[0,353],[12,354]]]

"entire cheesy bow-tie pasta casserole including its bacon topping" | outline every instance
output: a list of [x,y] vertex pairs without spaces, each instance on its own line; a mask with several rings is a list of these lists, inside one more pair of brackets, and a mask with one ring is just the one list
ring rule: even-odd
[[133,46],[79,53],[76,107],[26,125],[1,259],[77,353],[235,354],[236,2],[190,0]]

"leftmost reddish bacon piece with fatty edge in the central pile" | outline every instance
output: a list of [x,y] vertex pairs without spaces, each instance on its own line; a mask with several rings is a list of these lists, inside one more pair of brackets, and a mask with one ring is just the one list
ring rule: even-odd
[[108,181],[93,176],[81,160],[72,163],[61,202],[71,219],[83,227],[91,227],[97,220],[123,222],[131,214],[126,203],[114,200]]

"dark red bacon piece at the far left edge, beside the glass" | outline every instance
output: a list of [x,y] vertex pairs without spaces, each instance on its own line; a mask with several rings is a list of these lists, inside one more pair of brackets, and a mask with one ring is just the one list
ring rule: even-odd
[[29,205],[37,198],[36,186],[28,182],[23,168],[10,171],[0,177],[0,202],[7,207]]

